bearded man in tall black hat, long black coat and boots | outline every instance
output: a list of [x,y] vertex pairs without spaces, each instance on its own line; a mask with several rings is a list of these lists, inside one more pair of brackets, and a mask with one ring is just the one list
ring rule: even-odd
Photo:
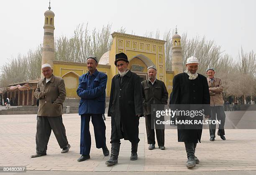
[[118,163],[120,139],[131,142],[131,158],[137,160],[139,117],[143,116],[140,77],[128,70],[128,57],[124,53],[115,55],[118,75],[111,83],[108,116],[111,117],[111,156],[106,165]]

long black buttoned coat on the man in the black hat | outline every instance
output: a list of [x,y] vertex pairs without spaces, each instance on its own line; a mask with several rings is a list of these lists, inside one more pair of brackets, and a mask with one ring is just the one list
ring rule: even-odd
[[111,116],[111,140],[124,138],[139,142],[139,117],[143,114],[140,77],[130,70],[123,76],[115,75],[111,83],[108,116]]

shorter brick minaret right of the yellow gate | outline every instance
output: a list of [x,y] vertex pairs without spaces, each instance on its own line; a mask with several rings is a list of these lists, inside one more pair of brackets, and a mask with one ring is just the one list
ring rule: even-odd
[[181,47],[181,37],[178,35],[177,28],[175,35],[172,37],[172,71],[174,75],[183,72],[182,63],[182,47]]

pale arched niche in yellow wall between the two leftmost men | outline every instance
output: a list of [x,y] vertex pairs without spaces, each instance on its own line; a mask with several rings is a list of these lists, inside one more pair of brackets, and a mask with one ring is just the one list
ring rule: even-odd
[[70,71],[64,74],[62,78],[65,82],[67,97],[78,98],[77,87],[79,83],[79,75],[76,72]]

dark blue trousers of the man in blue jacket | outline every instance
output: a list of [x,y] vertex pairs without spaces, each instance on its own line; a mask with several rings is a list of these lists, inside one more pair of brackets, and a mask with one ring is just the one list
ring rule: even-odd
[[92,141],[89,123],[91,117],[95,135],[96,148],[103,148],[106,146],[106,125],[102,118],[102,114],[83,114],[81,115],[81,155],[90,155]]

